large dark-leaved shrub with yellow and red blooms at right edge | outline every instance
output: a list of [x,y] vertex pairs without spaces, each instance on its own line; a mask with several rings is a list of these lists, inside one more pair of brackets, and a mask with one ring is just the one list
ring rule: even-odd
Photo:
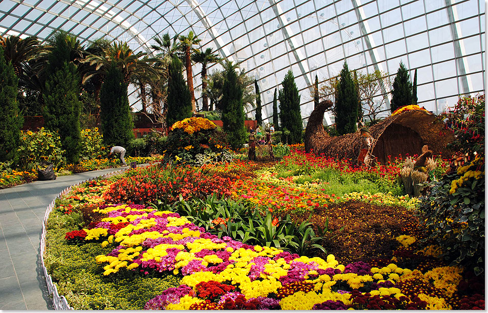
[[[421,221],[430,234],[428,239],[437,241],[446,260],[480,274],[485,229],[484,96],[460,99],[441,118],[456,138],[449,146],[460,157],[422,197]],[[464,160],[468,161],[463,164]]]

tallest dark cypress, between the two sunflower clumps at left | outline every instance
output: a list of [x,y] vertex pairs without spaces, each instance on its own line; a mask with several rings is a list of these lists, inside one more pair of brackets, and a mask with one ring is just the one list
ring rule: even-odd
[[61,145],[66,150],[68,163],[77,163],[81,151],[79,75],[70,61],[71,47],[68,35],[59,32],[54,35],[54,47],[48,56],[44,98],[44,126],[57,131]]

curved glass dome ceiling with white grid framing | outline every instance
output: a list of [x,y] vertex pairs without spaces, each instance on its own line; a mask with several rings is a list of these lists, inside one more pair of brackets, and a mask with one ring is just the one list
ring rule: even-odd
[[417,69],[419,105],[435,113],[483,92],[484,14],[481,0],[2,0],[0,35],[45,40],[64,29],[82,44],[104,37],[150,54],[155,36],[193,30],[201,49],[214,48],[258,79],[263,118],[291,69],[306,120],[315,75],[338,75],[344,60],[351,70],[390,75],[402,60],[411,77]]

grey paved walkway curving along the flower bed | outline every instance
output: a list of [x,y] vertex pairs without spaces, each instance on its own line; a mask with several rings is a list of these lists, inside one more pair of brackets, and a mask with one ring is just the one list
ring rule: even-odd
[[42,220],[66,187],[115,170],[35,181],[0,190],[0,310],[53,309],[40,267]]

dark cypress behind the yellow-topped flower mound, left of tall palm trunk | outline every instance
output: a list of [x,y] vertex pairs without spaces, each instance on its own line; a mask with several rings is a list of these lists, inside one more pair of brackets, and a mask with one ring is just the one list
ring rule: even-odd
[[166,123],[171,127],[178,120],[192,116],[192,99],[183,78],[182,63],[174,57],[169,68],[168,98],[166,100],[168,114]]

